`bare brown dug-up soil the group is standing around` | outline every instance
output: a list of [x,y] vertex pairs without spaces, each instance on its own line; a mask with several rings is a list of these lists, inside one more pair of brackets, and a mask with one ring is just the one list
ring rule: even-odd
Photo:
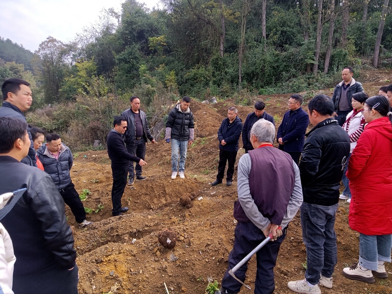
[[[378,87],[384,85],[392,71],[368,72],[377,75],[364,87],[369,95],[376,94]],[[321,91],[332,95],[331,89]],[[286,101],[290,97],[272,95],[263,98],[267,112],[281,122],[287,111]],[[257,99],[257,98],[255,98]],[[203,294],[208,281],[217,280],[221,284],[227,268],[228,254],[234,240],[235,220],[233,201],[237,197],[237,183],[226,187],[212,187],[215,180],[219,151],[217,130],[226,116],[227,107],[232,100],[205,105],[192,101],[196,120],[196,140],[188,148],[186,179],[171,175],[171,148],[164,141],[147,146],[143,169],[148,176],[145,181],[136,181],[135,189],[126,187],[122,203],[129,207],[123,217],[111,217],[112,177],[110,160],[106,151],[88,151],[74,154],[72,178],[79,193],[88,189],[91,194],[84,205],[98,210],[88,215],[94,224],[77,229],[73,215],[67,207],[68,221],[74,229],[76,260],[79,267],[79,293],[191,293]],[[305,105],[306,108],[306,105]],[[253,111],[252,106],[238,106],[239,116],[245,121],[246,115]],[[241,144],[240,144],[241,145]],[[239,156],[244,151],[241,149]],[[236,176],[236,175],[235,175]],[[192,201],[192,208],[185,205]],[[336,219],[338,236],[338,265],[334,273],[333,289],[322,288],[329,294],[384,294],[392,293],[392,266],[386,264],[390,272],[388,279],[376,278],[376,283],[367,284],[343,277],[342,269],[358,260],[357,232],[347,224],[349,205],[340,202]],[[159,244],[158,234],[165,228],[172,229],[176,245],[168,249]],[[305,246],[302,243],[299,215],[290,223],[288,236],[283,242],[275,267],[277,294],[292,293],[287,282],[304,278],[306,262]],[[254,289],[255,259],[249,262],[246,283]],[[253,293],[243,287],[241,294]]]

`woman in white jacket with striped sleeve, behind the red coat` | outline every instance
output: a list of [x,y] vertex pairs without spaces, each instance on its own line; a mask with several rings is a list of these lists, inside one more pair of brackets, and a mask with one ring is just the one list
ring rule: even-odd
[[357,141],[359,136],[361,136],[362,132],[365,129],[365,118],[364,118],[364,105],[366,99],[369,96],[365,92],[355,93],[351,99],[351,105],[353,110],[347,115],[346,121],[343,123],[343,129],[348,133],[350,137],[350,155],[348,155],[346,167],[343,172],[343,185],[344,191],[339,196],[340,199],[347,200],[348,203],[351,201],[351,192],[350,188],[348,187],[348,179],[346,177],[347,167],[348,167],[348,160],[350,159],[352,150],[357,145]]

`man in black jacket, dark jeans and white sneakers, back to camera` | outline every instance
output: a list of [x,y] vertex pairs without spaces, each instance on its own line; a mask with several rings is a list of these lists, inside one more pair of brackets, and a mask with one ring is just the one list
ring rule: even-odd
[[332,273],[338,260],[335,214],[339,186],[350,153],[350,138],[333,119],[331,98],[318,95],[308,104],[310,123],[299,172],[303,192],[302,239],[306,246],[305,279],[289,282],[296,293],[321,294],[319,284],[332,288]]

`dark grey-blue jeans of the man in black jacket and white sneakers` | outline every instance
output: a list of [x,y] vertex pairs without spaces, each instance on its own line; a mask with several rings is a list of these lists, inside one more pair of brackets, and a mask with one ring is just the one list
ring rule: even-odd
[[338,262],[335,215],[338,203],[322,206],[303,202],[301,205],[302,239],[306,246],[306,280],[312,285],[319,283],[320,273],[332,277]]

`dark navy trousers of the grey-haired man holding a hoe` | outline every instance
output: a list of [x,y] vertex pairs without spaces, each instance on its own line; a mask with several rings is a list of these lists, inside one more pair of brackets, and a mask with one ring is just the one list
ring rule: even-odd
[[[283,235],[276,241],[268,242],[256,253],[257,271],[254,294],[270,294],[275,290],[273,268],[276,264],[279,247],[287,234],[287,227]],[[235,280],[229,270],[234,268],[250,251],[266,239],[263,232],[252,222],[237,223],[234,232],[234,246],[229,254],[228,269],[222,280],[222,290],[228,293],[239,293],[242,284]],[[245,281],[247,263],[235,272],[235,276]],[[223,293],[223,292],[222,292]]]

